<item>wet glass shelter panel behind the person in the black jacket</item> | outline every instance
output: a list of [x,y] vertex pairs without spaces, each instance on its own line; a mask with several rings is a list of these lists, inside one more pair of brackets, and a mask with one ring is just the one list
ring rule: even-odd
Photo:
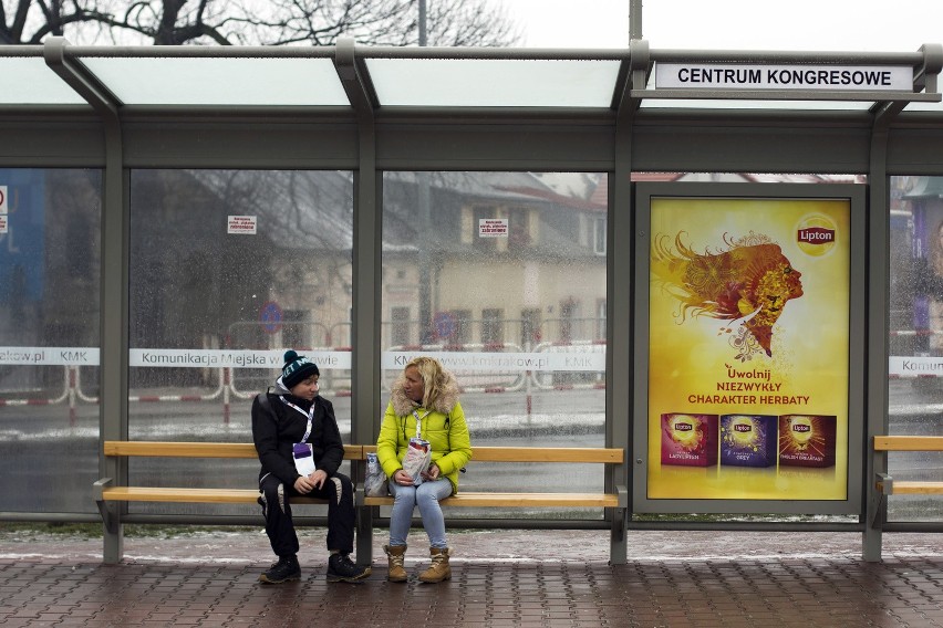
[[[251,442],[252,399],[294,348],[319,365],[350,442],[352,181],[349,171],[132,172],[131,439]],[[131,481],[148,485],[247,488],[259,472],[258,460],[129,465]],[[258,510],[139,510],[191,509]]]

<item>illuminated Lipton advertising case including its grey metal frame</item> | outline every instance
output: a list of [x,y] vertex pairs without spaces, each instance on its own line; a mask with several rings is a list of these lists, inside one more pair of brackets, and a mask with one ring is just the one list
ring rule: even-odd
[[860,513],[866,192],[635,186],[635,512]]

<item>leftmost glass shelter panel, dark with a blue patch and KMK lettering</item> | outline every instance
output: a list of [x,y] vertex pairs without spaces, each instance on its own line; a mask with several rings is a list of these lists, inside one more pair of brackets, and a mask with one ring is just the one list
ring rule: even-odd
[[100,170],[0,168],[6,511],[96,512],[101,205]]

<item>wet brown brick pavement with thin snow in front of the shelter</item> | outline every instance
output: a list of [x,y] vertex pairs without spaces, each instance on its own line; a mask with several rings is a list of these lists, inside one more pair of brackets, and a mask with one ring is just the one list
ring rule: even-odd
[[[201,555],[204,544],[195,548],[193,540],[141,541],[141,547],[128,540],[128,558],[113,566],[102,565],[101,554],[70,550],[79,542],[0,542],[0,625],[943,628],[940,536],[900,547],[891,542],[884,562],[869,564],[850,551],[857,535],[828,554],[807,547],[763,553],[769,548],[764,535],[681,533],[691,554],[684,556],[674,548],[677,534],[636,535],[650,557],[631,556],[621,566],[600,555],[598,537],[605,535],[599,532],[455,534],[464,555],[442,585],[385,582],[382,554],[362,584],[328,584],[324,557],[309,550],[301,582],[262,586],[265,548],[238,559],[240,543],[258,545],[251,537],[217,538],[218,561]],[[740,550],[725,557],[717,552],[728,536]],[[823,536],[817,538],[826,545]],[[794,547],[799,538],[790,537]],[[519,556],[502,557],[512,547]],[[153,555],[155,548],[163,555]],[[422,554],[410,550],[413,575],[426,563]]]

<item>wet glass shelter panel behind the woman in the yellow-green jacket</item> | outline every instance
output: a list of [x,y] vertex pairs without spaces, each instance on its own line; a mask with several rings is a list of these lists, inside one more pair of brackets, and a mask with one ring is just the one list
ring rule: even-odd
[[[412,357],[432,355],[462,387],[474,447],[603,447],[607,176],[387,172],[383,181],[382,405]],[[537,491],[549,465],[460,477],[472,491]],[[574,464],[556,490],[603,489],[601,464]],[[557,481],[555,480],[555,484]],[[533,517],[601,517],[567,509]],[[519,509],[448,516],[520,517]]]

